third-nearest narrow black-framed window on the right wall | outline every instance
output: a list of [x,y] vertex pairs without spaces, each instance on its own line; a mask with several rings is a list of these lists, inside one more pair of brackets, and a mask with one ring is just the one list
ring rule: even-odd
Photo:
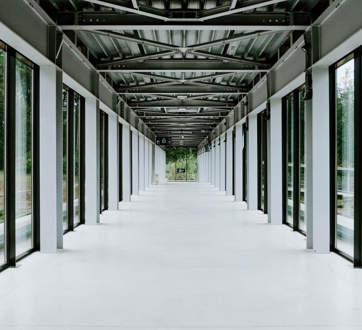
[[267,201],[267,120],[265,111],[258,115],[258,209],[268,212]]

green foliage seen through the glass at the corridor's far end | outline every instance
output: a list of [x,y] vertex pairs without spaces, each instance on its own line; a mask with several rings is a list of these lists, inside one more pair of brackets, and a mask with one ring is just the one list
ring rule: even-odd
[[[186,173],[176,173],[177,168],[186,168]],[[166,148],[166,180],[197,180],[197,148]]]

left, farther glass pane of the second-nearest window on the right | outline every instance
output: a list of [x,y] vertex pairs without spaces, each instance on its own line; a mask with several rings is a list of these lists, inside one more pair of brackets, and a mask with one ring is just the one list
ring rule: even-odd
[[293,142],[294,142],[293,95],[287,98],[287,222],[293,225]]

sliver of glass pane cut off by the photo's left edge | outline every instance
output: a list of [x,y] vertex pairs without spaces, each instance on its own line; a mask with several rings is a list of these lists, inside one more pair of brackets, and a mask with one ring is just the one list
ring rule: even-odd
[[0,264],[5,259],[4,167],[5,167],[5,51],[0,49]]

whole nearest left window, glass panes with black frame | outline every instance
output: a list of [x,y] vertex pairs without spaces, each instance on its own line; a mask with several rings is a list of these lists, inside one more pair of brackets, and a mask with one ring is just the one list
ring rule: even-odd
[[1,270],[39,248],[38,77],[37,66],[0,41]]

